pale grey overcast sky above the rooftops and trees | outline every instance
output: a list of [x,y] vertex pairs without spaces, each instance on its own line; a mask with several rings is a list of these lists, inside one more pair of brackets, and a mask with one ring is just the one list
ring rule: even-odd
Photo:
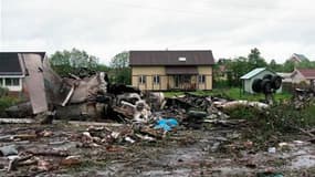
[[77,48],[108,63],[124,50],[259,48],[270,61],[315,60],[314,0],[0,0],[0,50]]

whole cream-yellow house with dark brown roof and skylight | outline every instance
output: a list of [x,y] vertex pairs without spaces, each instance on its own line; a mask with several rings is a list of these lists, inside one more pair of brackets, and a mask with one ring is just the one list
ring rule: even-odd
[[140,90],[212,90],[211,51],[130,51],[132,84]]

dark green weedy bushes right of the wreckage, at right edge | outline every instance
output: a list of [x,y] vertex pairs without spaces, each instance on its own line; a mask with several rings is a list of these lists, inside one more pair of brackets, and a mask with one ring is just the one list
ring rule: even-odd
[[296,110],[294,104],[277,104],[261,111],[254,107],[238,106],[227,111],[231,118],[248,119],[244,138],[260,146],[276,145],[279,136],[298,133],[315,126],[315,105]]

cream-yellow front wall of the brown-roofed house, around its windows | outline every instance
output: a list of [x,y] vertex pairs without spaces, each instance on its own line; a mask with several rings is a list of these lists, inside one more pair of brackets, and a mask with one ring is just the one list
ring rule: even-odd
[[[204,83],[198,83],[198,77],[191,77],[191,83],[196,83],[199,90],[212,90],[212,67],[198,66],[199,74],[206,76]],[[146,75],[146,84],[139,84],[139,76]],[[154,76],[160,76],[160,84],[154,84]],[[140,90],[160,90],[166,91],[175,87],[175,79],[166,75],[165,66],[133,66],[132,67],[132,85]]]

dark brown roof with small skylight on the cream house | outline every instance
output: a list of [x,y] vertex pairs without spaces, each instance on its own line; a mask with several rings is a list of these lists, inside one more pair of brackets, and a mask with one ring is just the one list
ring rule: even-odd
[[[180,61],[185,58],[186,61]],[[213,65],[212,51],[130,51],[129,65]]]

